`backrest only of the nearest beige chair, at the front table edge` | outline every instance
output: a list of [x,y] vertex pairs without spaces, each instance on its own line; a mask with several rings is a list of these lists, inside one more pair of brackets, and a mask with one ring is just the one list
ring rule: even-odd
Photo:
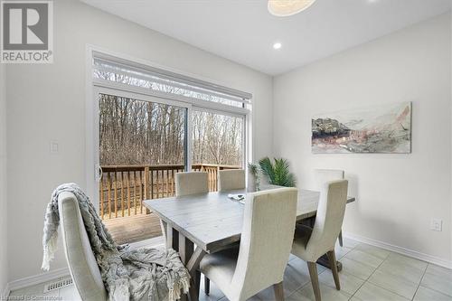
[[238,300],[283,280],[296,220],[297,188],[247,194],[239,258],[231,283],[237,287]]

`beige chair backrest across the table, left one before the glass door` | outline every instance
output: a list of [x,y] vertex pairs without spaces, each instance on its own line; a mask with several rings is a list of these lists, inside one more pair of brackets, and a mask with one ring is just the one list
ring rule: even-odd
[[209,174],[189,172],[175,174],[175,196],[209,193]]

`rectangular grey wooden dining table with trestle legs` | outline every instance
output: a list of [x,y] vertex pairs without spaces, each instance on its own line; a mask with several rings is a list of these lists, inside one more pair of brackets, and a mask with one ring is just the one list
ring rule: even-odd
[[[275,185],[261,187],[261,191],[281,188]],[[250,193],[247,189],[211,192],[146,200],[144,205],[162,221],[166,248],[179,252],[180,258],[192,277],[188,296],[191,301],[199,297],[202,257],[239,243],[243,223],[244,203],[231,195]],[[298,189],[297,222],[315,219],[320,193]],[[347,197],[347,203],[354,202]],[[328,266],[325,259],[319,264]],[[338,261],[337,266],[342,269]]]

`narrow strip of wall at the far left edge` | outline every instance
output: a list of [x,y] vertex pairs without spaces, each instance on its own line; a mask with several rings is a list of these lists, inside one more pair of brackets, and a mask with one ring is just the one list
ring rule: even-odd
[[0,297],[8,282],[6,204],[6,91],[5,64],[0,63]]

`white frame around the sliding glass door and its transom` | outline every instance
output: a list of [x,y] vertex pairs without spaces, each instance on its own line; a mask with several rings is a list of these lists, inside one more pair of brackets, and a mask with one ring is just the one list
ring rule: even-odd
[[[230,89],[234,92],[242,93],[243,95],[250,96],[249,99],[243,99],[242,108],[233,107],[213,101],[194,99],[186,97],[184,95],[177,95],[171,93],[165,93],[162,91],[154,89],[145,89],[137,86],[127,85],[120,82],[115,82],[111,80],[100,80],[93,76],[93,61],[94,58],[107,56],[109,60],[114,59],[118,63],[124,64],[125,61],[131,63],[131,67],[136,68],[137,66],[142,67],[144,70],[146,68],[158,68],[161,71],[167,71],[171,74],[180,75],[182,78],[199,80],[200,83],[211,83],[212,87],[218,86],[224,90],[228,90],[227,86],[221,85],[221,83],[215,82],[213,80],[202,79],[198,76],[193,76],[187,74],[183,71],[174,71],[170,68],[163,68],[162,66],[143,61],[137,58],[132,58],[124,54],[112,53],[103,49],[99,49],[96,46],[87,45],[87,64],[86,64],[86,174],[87,174],[87,192],[91,195],[94,202],[94,206],[99,210],[99,93],[118,95],[125,98],[153,101],[162,104],[174,105],[181,108],[187,108],[186,110],[186,130],[185,139],[187,143],[185,144],[185,165],[188,171],[192,170],[192,159],[193,159],[193,127],[192,127],[192,116],[193,109],[210,111],[215,114],[230,115],[233,117],[243,118],[243,128],[242,128],[242,146],[243,146],[243,159],[242,167],[247,169],[247,162],[252,161],[252,124],[253,124],[253,97],[252,93],[241,92],[238,89]],[[147,100],[153,99],[153,100]],[[157,100],[158,99],[158,100]],[[94,152],[93,152],[94,149]]]

